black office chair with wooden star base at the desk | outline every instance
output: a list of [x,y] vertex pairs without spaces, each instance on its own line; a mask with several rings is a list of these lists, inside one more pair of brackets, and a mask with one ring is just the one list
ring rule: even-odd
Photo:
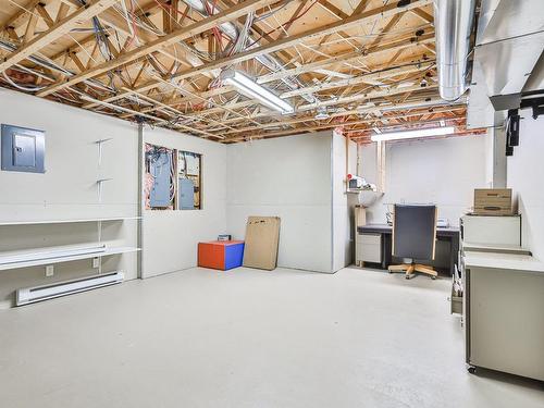
[[393,256],[403,258],[403,264],[391,265],[390,273],[405,272],[406,279],[421,272],[434,280],[432,267],[415,260],[433,260],[436,243],[436,206],[395,205],[393,213]]

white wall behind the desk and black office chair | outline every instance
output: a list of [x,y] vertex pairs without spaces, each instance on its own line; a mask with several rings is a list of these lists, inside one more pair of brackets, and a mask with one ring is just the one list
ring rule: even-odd
[[[376,183],[375,145],[361,152],[362,175]],[[489,186],[485,136],[388,143],[385,194],[368,211],[370,223],[384,223],[387,205],[434,202],[438,217],[459,224],[473,202],[474,188]]]

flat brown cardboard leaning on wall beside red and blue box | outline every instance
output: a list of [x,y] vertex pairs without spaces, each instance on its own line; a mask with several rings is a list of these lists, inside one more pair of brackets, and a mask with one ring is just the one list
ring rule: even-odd
[[279,217],[249,217],[246,225],[244,267],[271,271],[277,264]]

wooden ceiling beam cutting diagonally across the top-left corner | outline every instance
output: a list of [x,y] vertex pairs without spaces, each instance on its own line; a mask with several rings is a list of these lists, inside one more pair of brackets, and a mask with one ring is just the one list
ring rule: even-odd
[[118,2],[118,0],[90,1],[87,5],[82,7],[74,13],[70,14],[67,17],[55,23],[53,26],[51,26],[51,28],[45,30],[41,34],[38,34],[36,37],[32,38],[29,41],[17,48],[16,51],[13,51],[10,55],[5,57],[3,61],[0,62],[0,72],[4,72],[10,66],[39,51],[41,48],[48,46],[57,38],[62,37],[66,33],[70,33],[72,28],[75,28],[77,25],[82,24],[82,22],[101,13],[115,2]]

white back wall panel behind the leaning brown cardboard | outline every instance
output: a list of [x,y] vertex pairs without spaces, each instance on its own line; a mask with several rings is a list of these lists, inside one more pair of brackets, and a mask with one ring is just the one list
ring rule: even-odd
[[282,219],[279,267],[332,270],[332,132],[228,145],[227,232],[249,215]]

